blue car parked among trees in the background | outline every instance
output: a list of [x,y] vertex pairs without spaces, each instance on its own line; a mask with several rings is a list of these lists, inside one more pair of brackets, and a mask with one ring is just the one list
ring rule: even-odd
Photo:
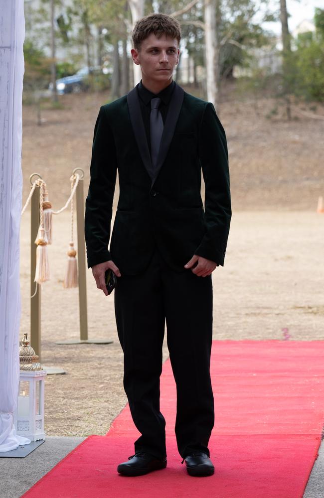
[[[82,67],[72,76],[65,76],[65,78],[59,78],[56,80],[56,91],[59,95],[67,93],[79,93],[84,92],[89,88],[88,76],[102,76],[108,75],[111,70],[107,67],[101,68],[100,66],[92,67]],[[109,78],[109,76],[107,76]],[[53,89],[53,83],[48,86],[49,90]]]

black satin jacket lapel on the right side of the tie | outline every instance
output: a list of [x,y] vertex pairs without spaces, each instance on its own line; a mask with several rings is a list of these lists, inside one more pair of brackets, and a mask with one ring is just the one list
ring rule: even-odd
[[152,185],[156,181],[160,169],[162,168],[162,164],[165,160],[167,151],[169,149],[176,122],[178,120],[182,102],[184,97],[184,90],[179,85],[175,83],[174,90],[172,92],[171,100],[169,103],[168,112],[166,115],[166,120],[163,127],[163,133],[161,138],[161,144],[158,154],[157,166],[154,171],[154,178],[152,180]]

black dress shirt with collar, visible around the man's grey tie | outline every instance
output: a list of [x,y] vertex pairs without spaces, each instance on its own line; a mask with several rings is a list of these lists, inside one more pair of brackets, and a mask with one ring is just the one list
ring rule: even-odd
[[172,81],[167,87],[163,88],[163,90],[161,90],[161,92],[159,92],[158,94],[154,94],[153,92],[148,90],[143,85],[142,80],[140,81],[139,86],[137,87],[140,97],[140,107],[142,111],[142,117],[150,149],[150,154],[151,154],[151,136],[150,136],[151,100],[156,97],[159,97],[161,99],[159,111],[161,112],[162,115],[163,124],[165,124],[166,114],[168,111],[174,85],[175,83],[174,81]]

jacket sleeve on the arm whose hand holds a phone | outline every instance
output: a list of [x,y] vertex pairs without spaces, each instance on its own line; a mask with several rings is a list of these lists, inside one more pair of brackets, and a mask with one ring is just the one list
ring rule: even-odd
[[94,129],[90,184],[85,201],[84,235],[88,268],[111,259],[108,250],[117,159],[106,111],[100,107]]

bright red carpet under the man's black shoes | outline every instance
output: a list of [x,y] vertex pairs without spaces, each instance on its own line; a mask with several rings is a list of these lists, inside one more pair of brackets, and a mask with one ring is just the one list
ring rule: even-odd
[[[163,366],[168,466],[126,478],[117,464],[138,437],[128,406],[106,436],[90,436],[23,497],[302,498],[324,422],[324,341],[214,341],[215,474],[192,478],[176,450],[175,388]],[[45,443],[46,444],[46,443]]]

